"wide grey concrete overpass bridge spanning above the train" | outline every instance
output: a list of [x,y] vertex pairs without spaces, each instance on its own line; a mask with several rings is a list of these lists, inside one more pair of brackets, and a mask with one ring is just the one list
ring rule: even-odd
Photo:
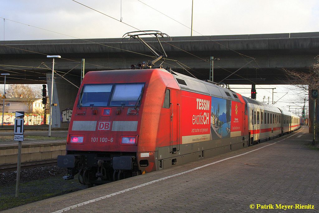
[[[160,49],[154,38],[145,40]],[[165,60],[164,68],[171,66],[174,71],[188,75],[181,68],[183,64],[198,79],[206,80],[210,77],[210,58],[219,58],[214,61],[213,80],[226,84],[289,84],[282,69],[307,72],[319,53],[319,32],[179,36],[161,40],[168,58],[172,59]],[[42,64],[52,67],[52,59],[47,55],[61,55],[55,61],[55,70],[61,75],[68,72],[64,77],[76,85],[80,84],[82,58],[85,72],[127,69],[139,61],[152,60],[148,49],[137,40],[126,38],[0,41],[0,44],[0,72],[11,74],[8,83],[49,85],[50,71]],[[58,113],[73,107],[77,88],[62,78],[55,81],[54,97],[59,110],[53,117],[58,120]]]

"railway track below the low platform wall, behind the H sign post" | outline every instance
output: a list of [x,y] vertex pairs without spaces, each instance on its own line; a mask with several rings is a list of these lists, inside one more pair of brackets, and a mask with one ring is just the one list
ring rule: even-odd
[[[21,163],[21,170],[42,167],[42,166],[53,166],[53,165],[57,164],[56,162],[57,162],[56,159],[24,162],[24,163]],[[2,164],[2,165],[0,165],[0,172],[16,171],[16,170],[17,170],[17,164]]]

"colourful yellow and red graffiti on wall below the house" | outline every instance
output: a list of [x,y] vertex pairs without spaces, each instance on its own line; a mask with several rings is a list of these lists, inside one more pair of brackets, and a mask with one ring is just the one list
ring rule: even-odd
[[[4,125],[14,125],[15,113],[4,113]],[[47,115],[47,122],[50,116]],[[2,113],[0,113],[0,122],[2,124]],[[25,114],[24,115],[24,125],[43,125],[44,124],[44,114]]]

